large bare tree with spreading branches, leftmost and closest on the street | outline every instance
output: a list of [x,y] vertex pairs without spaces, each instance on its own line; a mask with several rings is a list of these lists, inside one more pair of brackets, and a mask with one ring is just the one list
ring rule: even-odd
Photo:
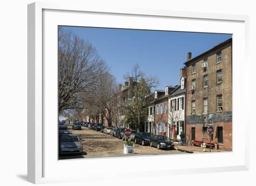
[[95,90],[107,66],[96,49],[72,32],[59,28],[58,86],[59,113],[81,109],[81,93]]

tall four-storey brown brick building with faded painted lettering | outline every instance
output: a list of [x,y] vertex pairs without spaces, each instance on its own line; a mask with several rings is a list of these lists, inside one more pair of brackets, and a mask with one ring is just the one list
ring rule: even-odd
[[232,38],[191,59],[186,65],[186,140],[208,138],[209,114],[214,114],[212,141],[232,150]]

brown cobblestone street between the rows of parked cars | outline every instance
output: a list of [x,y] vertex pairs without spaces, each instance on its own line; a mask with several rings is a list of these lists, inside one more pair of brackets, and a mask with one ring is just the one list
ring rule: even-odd
[[82,127],[82,130],[72,130],[73,134],[82,139],[82,155],[64,155],[60,160],[77,158],[101,158],[101,157],[120,157],[135,155],[159,155],[159,154],[184,154],[177,150],[162,150],[150,146],[135,144],[135,154],[123,154],[124,141],[114,136],[103,134],[89,128]]

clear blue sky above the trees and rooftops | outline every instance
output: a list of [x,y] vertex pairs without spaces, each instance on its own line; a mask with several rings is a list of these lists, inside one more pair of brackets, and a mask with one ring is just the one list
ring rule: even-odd
[[192,58],[232,37],[231,34],[145,31],[63,26],[91,43],[104,58],[118,83],[138,63],[146,75],[157,76],[163,90],[179,84],[187,53]]

